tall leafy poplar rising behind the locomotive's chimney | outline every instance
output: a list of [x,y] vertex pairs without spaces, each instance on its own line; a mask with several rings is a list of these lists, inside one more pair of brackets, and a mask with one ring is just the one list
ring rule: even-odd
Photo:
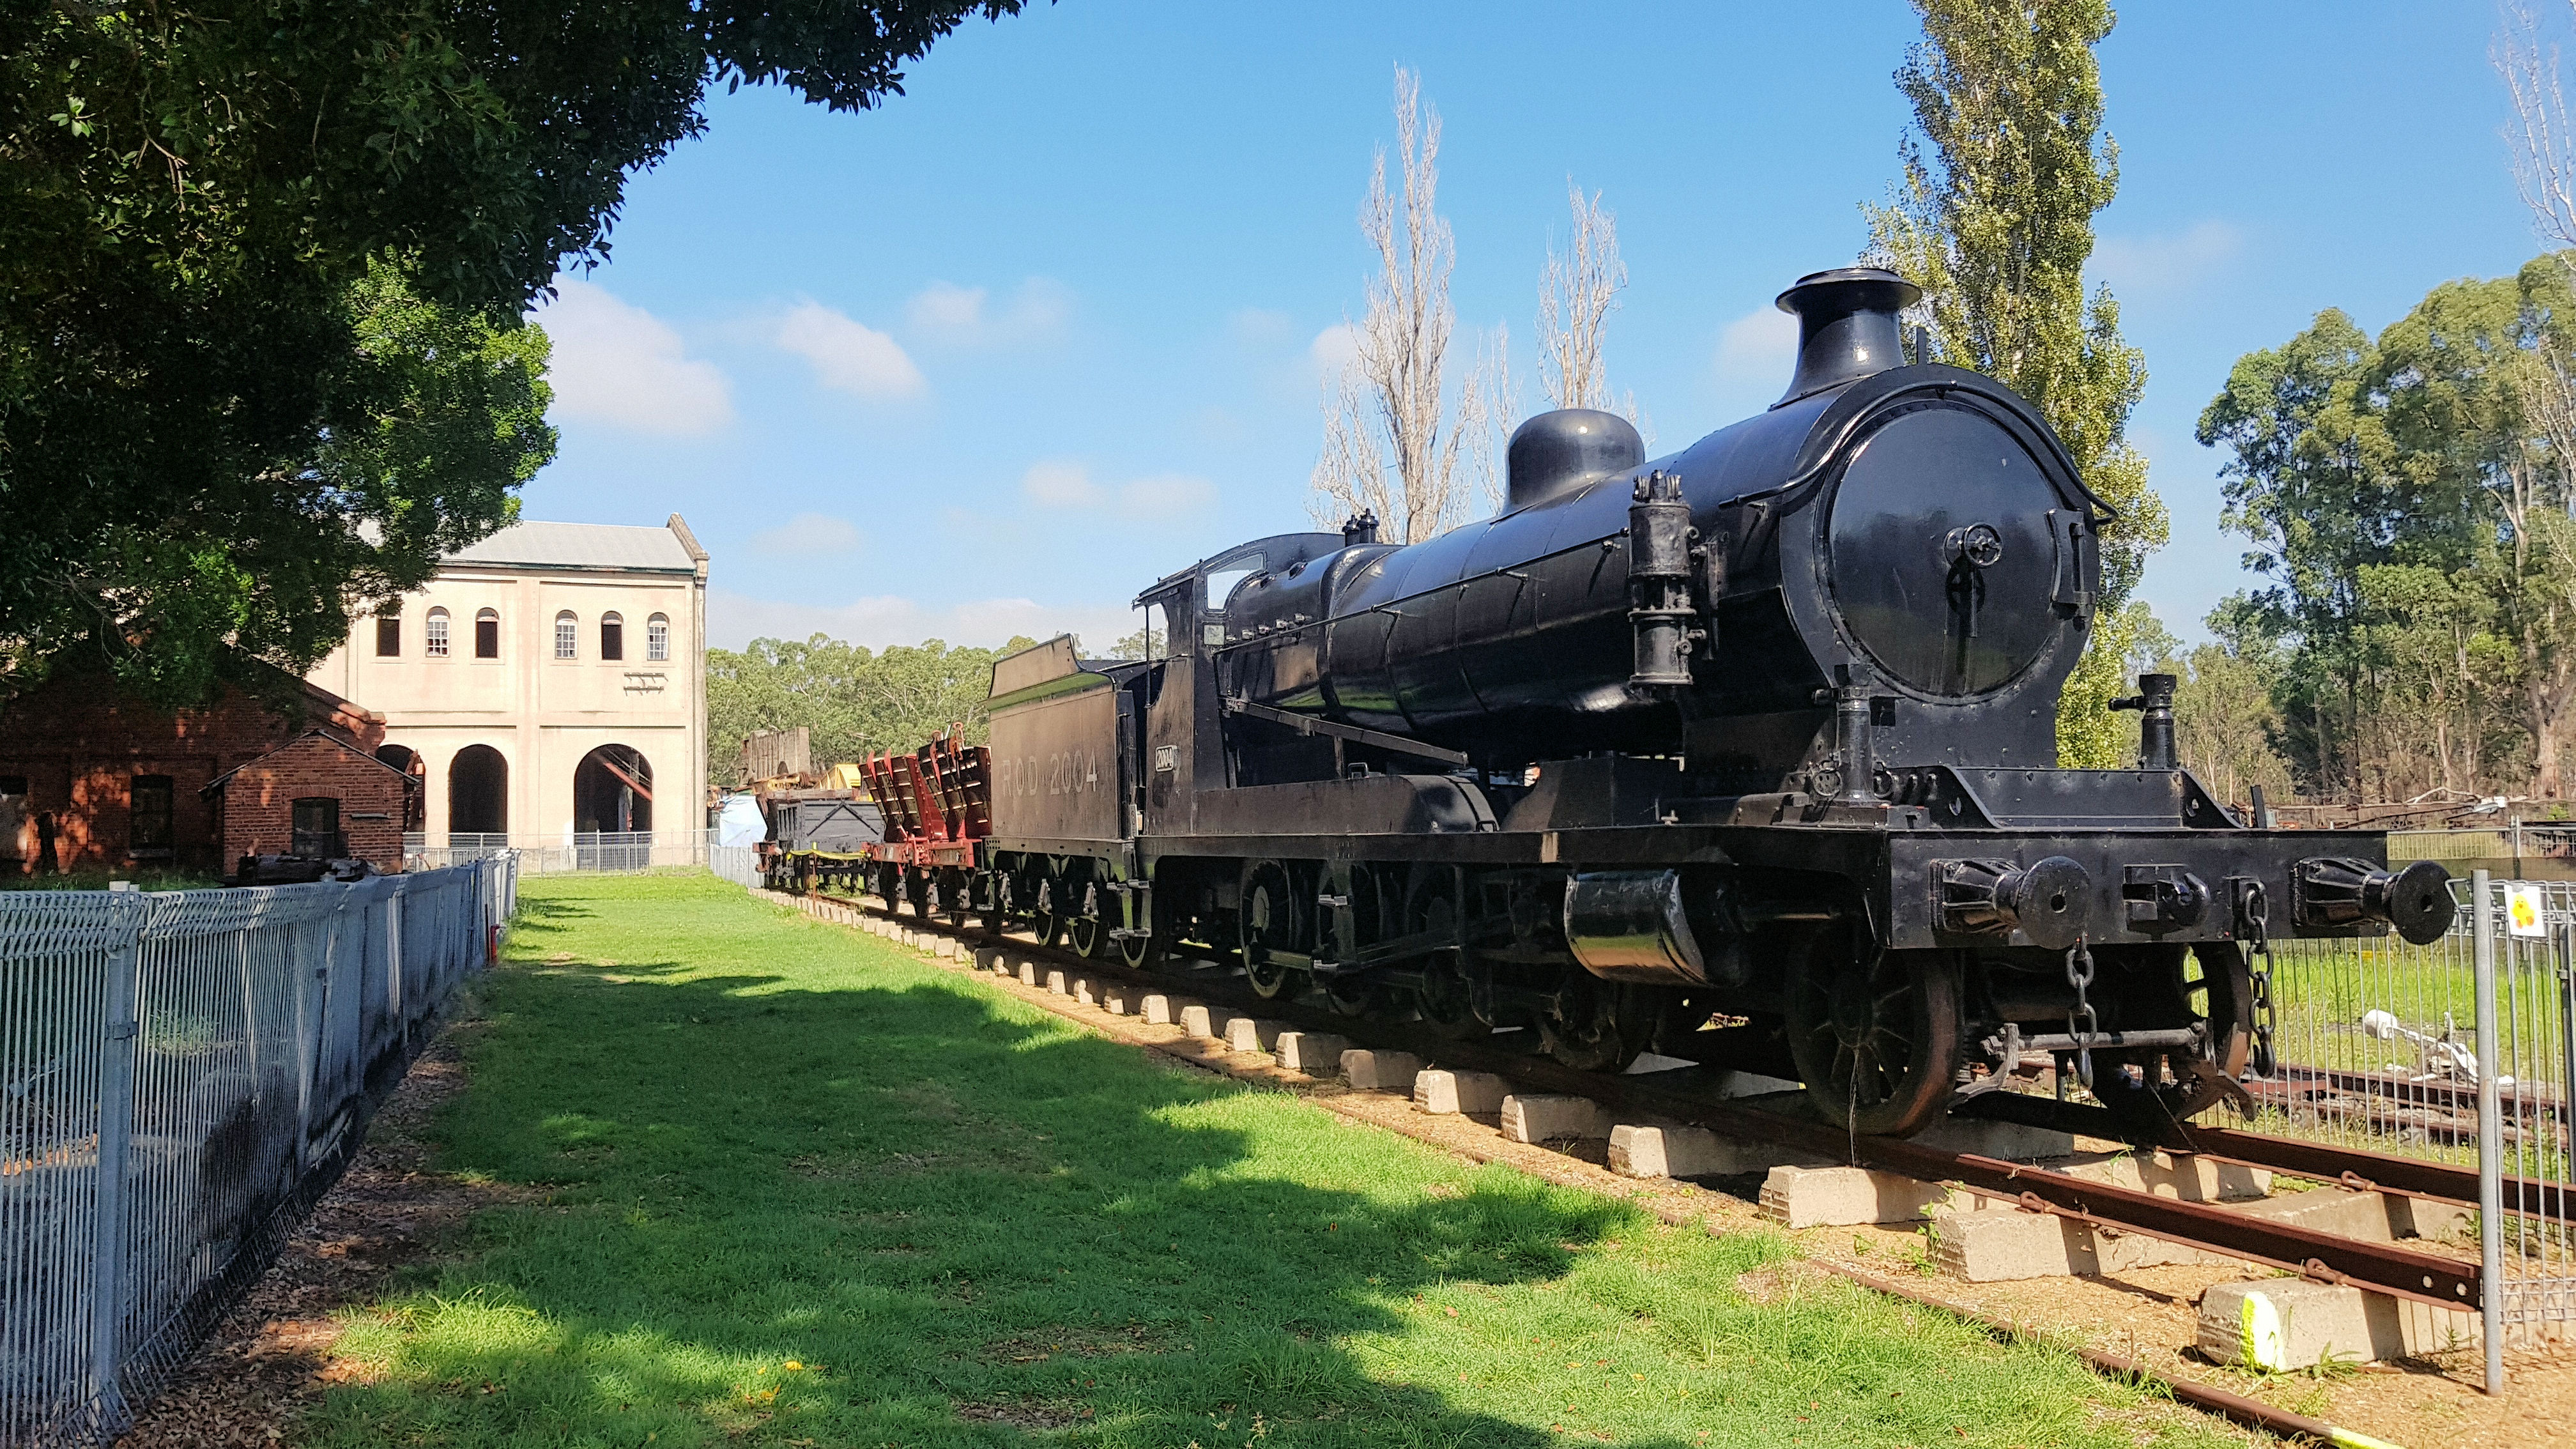
[[2058,763],[2107,768],[2133,753],[2110,714],[2141,624],[2125,611],[2146,557],[2164,547],[2164,500],[2128,415],[2146,358],[2120,340],[2110,289],[2084,289],[2092,217],[2120,188],[2120,147],[2102,131],[2094,46],[2107,0],[1914,0],[1924,39],[1896,88],[1914,103],[1906,175],[1865,206],[1873,260],[1924,289],[1940,358],[2002,379],[2056,428],[2079,474],[2120,516],[2102,529],[2094,632],[2058,701]]

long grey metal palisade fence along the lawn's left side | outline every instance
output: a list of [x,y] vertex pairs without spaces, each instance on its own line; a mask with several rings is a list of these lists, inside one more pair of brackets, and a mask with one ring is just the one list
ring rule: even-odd
[[103,1444],[337,1181],[500,944],[507,853],[0,892],[0,1444]]

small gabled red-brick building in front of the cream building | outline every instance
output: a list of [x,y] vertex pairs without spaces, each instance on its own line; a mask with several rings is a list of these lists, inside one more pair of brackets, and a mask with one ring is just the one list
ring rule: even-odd
[[224,859],[358,856],[402,869],[412,779],[330,730],[232,766],[206,784],[224,830]]

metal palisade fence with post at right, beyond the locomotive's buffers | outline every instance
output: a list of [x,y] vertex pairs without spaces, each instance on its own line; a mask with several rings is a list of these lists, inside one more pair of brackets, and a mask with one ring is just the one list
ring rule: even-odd
[[2277,941],[2257,1127],[2478,1165],[2481,1212],[2416,1214],[2483,1258],[2488,1387],[2501,1351],[2576,1323],[2576,884],[2476,871],[2429,946]]

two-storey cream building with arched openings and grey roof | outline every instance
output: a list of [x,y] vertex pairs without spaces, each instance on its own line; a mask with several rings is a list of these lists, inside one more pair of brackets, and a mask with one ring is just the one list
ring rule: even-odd
[[358,619],[312,681],[384,717],[428,848],[706,828],[706,549],[677,513],[513,523]]

